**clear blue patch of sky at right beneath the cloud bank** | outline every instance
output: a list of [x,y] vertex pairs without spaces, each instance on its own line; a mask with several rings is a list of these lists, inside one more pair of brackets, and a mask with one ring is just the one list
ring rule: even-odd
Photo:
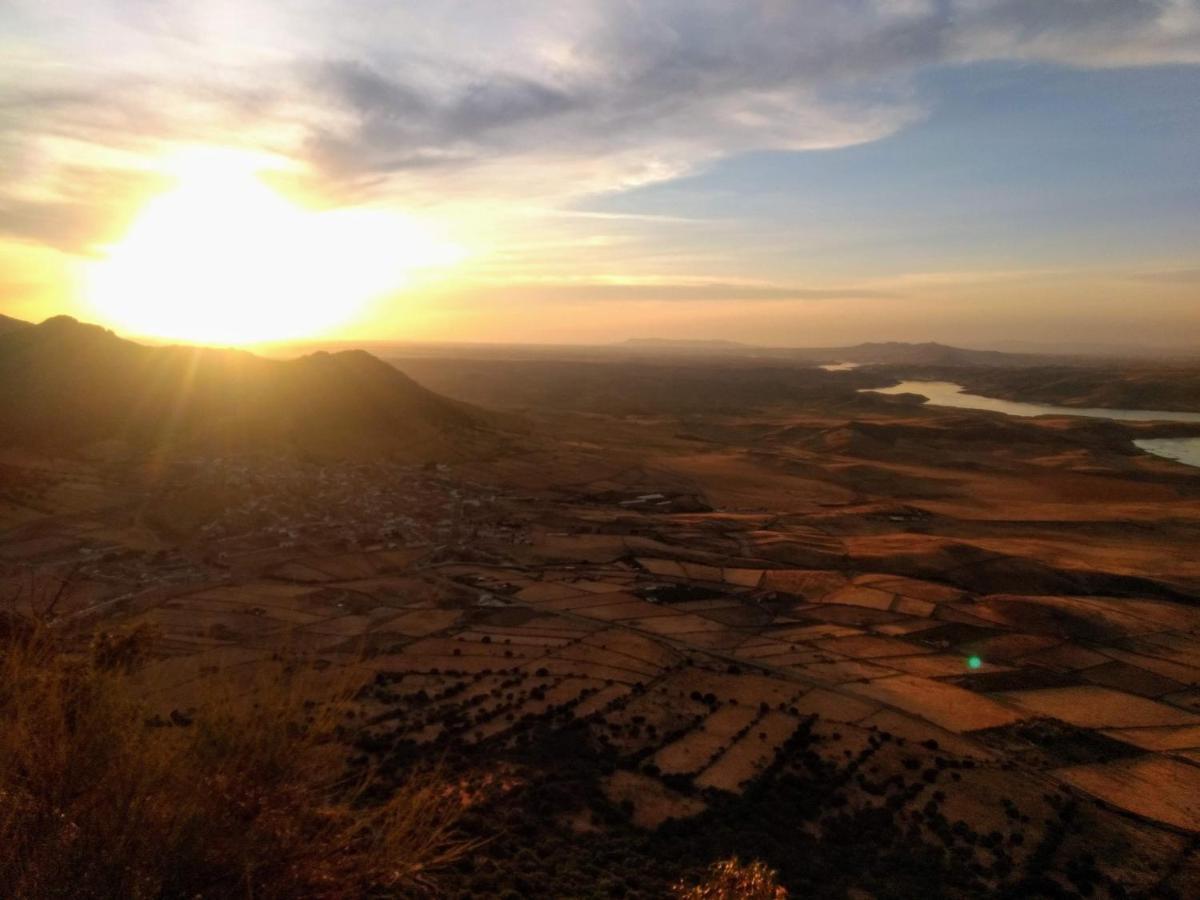
[[588,208],[743,223],[758,262],[847,274],[1196,259],[1200,67],[956,65],[917,94],[928,115],[880,140],[743,154]]

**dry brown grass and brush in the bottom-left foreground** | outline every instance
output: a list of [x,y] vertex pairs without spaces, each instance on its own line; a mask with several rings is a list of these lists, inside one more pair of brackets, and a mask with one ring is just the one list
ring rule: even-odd
[[344,686],[317,692],[316,673],[281,664],[214,679],[194,716],[164,725],[136,677],[144,637],[68,646],[36,618],[0,619],[6,896],[419,892],[470,850],[440,773],[384,800],[347,774]]

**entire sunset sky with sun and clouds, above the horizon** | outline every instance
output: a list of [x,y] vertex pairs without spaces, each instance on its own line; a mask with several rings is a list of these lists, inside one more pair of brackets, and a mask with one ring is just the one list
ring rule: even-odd
[[1200,346],[1200,0],[0,0],[0,313]]

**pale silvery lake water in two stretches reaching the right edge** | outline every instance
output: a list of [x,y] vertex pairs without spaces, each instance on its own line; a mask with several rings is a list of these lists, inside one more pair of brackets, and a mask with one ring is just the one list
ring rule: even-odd
[[[863,389],[868,390],[868,389]],[[984,397],[967,394],[954,382],[901,382],[893,388],[874,389],[875,394],[919,394],[929,403],[962,409],[986,409],[1008,415],[1082,415],[1092,419],[1122,419],[1124,421],[1200,422],[1200,413],[1176,413],[1168,409],[1106,409],[1104,407],[1056,407],[1049,403],[1021,403],[1015,400]],[[1156,456],[1164,456],[1187,466],[1200,467],[1200,438],[1146,438],[1133,442]]]

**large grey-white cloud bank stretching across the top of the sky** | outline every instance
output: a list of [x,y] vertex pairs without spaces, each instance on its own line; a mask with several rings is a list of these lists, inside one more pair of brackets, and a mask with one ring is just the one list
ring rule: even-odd
[[0,30],[0,210],[67,247],[107,200],[56,169],[181,143],[290,156],[329,203],[562,205],[876,140],[931,66],[1200,62],[1200,0],[10,0]]

